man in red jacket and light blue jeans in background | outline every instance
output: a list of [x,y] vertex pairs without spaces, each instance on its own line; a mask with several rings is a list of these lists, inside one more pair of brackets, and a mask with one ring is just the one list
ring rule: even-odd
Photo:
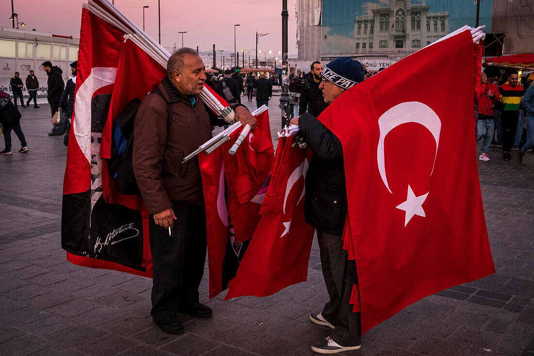
[[488,149],[493,137],[493,104],[500,101],[499,88],[493,82],[499,75],[499,69],[494,66],[486,67],[481,76],[480,87],[478,88],[478,125],[476,130],[476,142],[482,140],[482,148],[478,159],[489,161]]

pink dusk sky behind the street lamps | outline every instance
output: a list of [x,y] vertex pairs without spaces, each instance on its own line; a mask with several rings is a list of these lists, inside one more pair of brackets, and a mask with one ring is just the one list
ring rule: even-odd
[[[295,1],[289,0],[288,52],[296,55]],[[29,31],[35,28],[40,32],[80,36],[82,0],[56,0],[36,2],[35,0],[13,0],[14,12],[19,21]],[[234,24],[236,28],[237,50],[254,49],[256,30],[269,33],[260,37],[258,50],[281,51],[282,49],[282,2],[280,0],[160,0],[161,3],[161,44],[164,47],[177,47],[182,44],[200,51],[211,51],[213,44],[217,50],[233,51]],[[46,4],[46,5],[44,5]],[[139,28],[143,28],[143,6],[145,10],[146,32],[158,40],[158,0],[115,0],[115,6]],[[0,26],[11,27],[9,14],[11,2],[0,2]],[[252,52],[251,52],[252,53]],[[259,57],[259,56],[258,56]]]

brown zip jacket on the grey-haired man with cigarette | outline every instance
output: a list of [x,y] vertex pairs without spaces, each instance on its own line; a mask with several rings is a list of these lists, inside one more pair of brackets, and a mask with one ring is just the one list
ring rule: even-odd
[[[212,126],[224,125],[198,96],[191,105],[167,76],[159,88],[165,99],[154,93],[143,99],[133,136],[133,172],[150,214],[172,207],[171,200],[204,204],[198,158],[180,159],[211,138]],[[165,100],[172,105],[169,123]]]

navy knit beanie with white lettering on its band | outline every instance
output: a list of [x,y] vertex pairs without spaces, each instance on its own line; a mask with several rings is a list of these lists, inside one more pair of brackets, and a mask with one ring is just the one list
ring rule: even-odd
[[364,81],[364,68],[357,60],[340,57],[326,64],[321,75],[336,86],[349,89]]

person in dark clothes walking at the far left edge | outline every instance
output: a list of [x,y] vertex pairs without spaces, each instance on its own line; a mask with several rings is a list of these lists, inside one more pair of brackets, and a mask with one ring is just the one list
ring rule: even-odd
[[20,112],[11,102],[9,95],[2,90],[0,90],[0,123],[4,131],[5,143],[5,148],[0,154],[11,154],[11,130],[15,131],[15,134],[19,138],[19,153],[25,153],[30,150],[26,143],[26,137],[24,137],[24,133],[22,133],[22,129],[20,128]]

